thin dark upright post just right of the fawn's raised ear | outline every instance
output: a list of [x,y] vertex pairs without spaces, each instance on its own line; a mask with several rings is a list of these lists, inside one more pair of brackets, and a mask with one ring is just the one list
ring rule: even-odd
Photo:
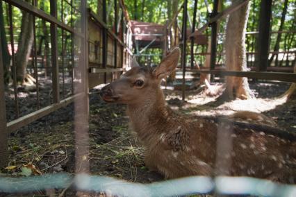
[[182,78],[182,101],[185,101],[185,74],[186,74],[186,31],[187,31],[187,0],[183,4],[183,26],[182,26],[182,53],[181,53],[181,66],[183,68]]

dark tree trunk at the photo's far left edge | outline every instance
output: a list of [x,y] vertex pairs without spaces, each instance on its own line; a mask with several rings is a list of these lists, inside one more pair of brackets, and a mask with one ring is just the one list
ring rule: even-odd
[[[2,53],[2,60],[3,60],[3,72],[4,72],[4,83],[9,83],[9,66],[10,66],[10,54],[8,52],[8,45],[6,40],[6,32],[4,28],[4,18],[3,18],[3,7],[2,1],[0,1],[0,42],[1,42],[1,53]],[[12,49],[13,50],[13,49]]]

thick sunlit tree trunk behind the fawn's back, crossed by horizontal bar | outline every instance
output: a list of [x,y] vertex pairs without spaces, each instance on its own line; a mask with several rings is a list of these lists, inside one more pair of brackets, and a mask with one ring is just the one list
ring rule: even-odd
[[[234,3],[236,0],[233,0]],[[228,71],[247,71],[245,31],[249,16],[249,4],[231,13],[227,22],[225,53],[226,67]],[[247,78],[228,76],[226,89],[222,94],[223,99],[249,99],[252,92],[249,89]]]

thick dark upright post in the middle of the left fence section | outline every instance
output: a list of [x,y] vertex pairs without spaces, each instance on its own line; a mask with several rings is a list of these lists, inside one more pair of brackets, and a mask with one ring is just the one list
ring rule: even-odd
[[[50,0],[50,14],[57,18],[57,7],[56,1]],[[52,68],[52,89],[54,96],[54,103],[60,102],[60,87],[59,87],[59,76],[58,76],[58,31],[57,25],[54,23],[50,24],[51,33],[51,68]]]

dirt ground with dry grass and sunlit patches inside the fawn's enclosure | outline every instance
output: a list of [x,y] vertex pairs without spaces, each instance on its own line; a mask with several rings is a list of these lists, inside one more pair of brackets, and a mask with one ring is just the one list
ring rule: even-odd
[[[289,83],[251,82],[250,87],[256,99],[226,103],[215,101],[217,97],[208,97],[199,93],[198,90],[186,92],[186,103],[183,104],[181,92],[166,89],[165,95],[167,103],[173,110],[186,114],[214,116],[231,114],[238,110],[252,110],[271,117],[279,128],[296,132],[296,101],[286,103],[278,98],[289,85]],[[135,135],[129,131],[126,107],[105,103],[97,92],[98,89],[92,89],[90,94],[90,172],[94,175],[108,175],[130,182],[147,183],[163,180],[161,175],[149,171],[145,166],[144,149]],[[24,92],[24,94],[34,93]],[[28,99],[26,102],[29,103],[31,100]],[[73,110],[74,106],[70,104],[10,133],[8,166],[15,167],[2,169],[1,173],[19,176],[22,166],[29,163],[34,164],[41,174],[74,173]],[[10,111],[13,110],[8,110],[8,113]],[[71,196],[71,191],[69,193],[66,191],[65,195]]]

